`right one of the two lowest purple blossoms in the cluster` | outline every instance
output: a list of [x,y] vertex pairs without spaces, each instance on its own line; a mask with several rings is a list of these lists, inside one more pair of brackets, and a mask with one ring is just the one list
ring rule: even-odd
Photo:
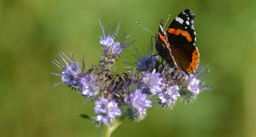
[[124,102],[128,104],[128,115],[132,121],[143,120],[147,116],[147,108],[151,106],[151,100],[148,100],[147,94],[141,93],[142,91],[135,90],[134,93],[129,94]]

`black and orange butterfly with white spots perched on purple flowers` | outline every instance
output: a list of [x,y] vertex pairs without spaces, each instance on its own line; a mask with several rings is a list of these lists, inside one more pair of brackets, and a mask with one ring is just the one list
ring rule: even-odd
[[199,63],[199,51],[195,46],[194,13],[184,10],[170,24],[165,32],[161,20],[156,36],[156,50],[170,67],[177,67],[179,72],[193,74]]

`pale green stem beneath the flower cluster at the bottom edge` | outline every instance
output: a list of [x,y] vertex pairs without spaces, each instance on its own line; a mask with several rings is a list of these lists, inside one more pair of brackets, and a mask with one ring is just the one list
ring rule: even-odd
[[107,125],[103,125],[103,133],[102,133],[102,137],[110,137],[111,133],[113,131],[116,130],[116,128],[122,123],[122,121],[124,120],[124,118],[126,117],[125,114],[121,115],[114,124],[107,126]]

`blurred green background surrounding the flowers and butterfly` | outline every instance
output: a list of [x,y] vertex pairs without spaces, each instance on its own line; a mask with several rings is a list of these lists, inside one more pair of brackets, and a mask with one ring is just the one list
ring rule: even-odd
[[[119,36],[142,54],[160,20],[173,20],[190,8],[200,63],[208,64],[206,83],[189,105],[173,110],[149,109],[139,123],[125,120],[112,137],[256,137],[256,1],[255,0],[0,0],[0,136],[99,137],[100,131],[80,114],[95,115],[93,103],[64,85],[51,63],[63,51],[74,60],[85,56],[87,68],[98,64],[98,35],[121,20]],[[168,24],[169,24],[168,23]],[[134,53],[134,47],[128,48]],[[130,62],[135,59],[125,51]],[[124,66],[119,59],[118,65]]]

